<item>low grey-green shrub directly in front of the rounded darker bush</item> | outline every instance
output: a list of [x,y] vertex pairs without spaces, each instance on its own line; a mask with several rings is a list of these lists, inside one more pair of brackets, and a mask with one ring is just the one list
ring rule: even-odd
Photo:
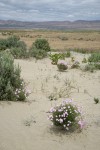
[[36,48],[32,47],[29,51],[29,56],[35,57],[36,59],[42,59],[47,56],[47,52],[45,50],[36,49]]

